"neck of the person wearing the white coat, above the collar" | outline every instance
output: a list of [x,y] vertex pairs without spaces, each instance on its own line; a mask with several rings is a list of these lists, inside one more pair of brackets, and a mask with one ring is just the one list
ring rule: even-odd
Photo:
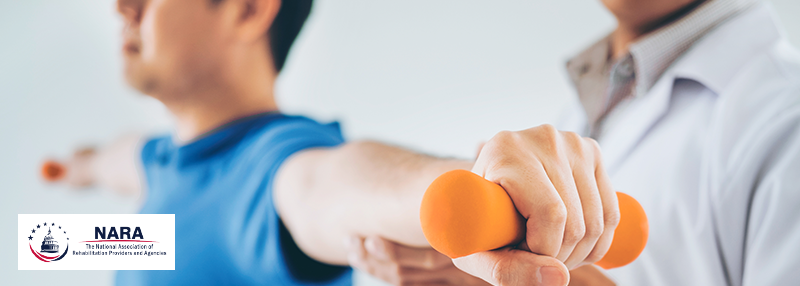
[[664,5],[650,5],[648,8],[652,11],[642,11],[648,8],[621,9],[625,11],[615,11],[609,8],[617,18],[617,28],[611,35],[611,57],[617,59],[625,56],[630,44],[686,16],[704,2],[706,0],[675,1],[673,2],[674,7],[667,8],[659,7]]

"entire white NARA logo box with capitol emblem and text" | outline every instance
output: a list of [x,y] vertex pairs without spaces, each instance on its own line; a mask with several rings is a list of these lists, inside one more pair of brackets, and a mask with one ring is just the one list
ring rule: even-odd
[[174,214],[19,214],[17,235],[19,270],[175,270]]

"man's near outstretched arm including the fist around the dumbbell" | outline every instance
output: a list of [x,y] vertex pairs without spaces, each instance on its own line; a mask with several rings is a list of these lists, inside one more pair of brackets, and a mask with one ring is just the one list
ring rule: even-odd
[[[528,229],[521,245],[461,260],[463,270],[495,284],[541,281],[548,272],[565,285],[567,269],[594,263],[608,251],[619,209],[600,151],[593,140],[549,125],[498,133],[483,147],[477,164],[375,142],[305,151],[278,172],[275,203],[306,254],[346,264],[345,241],[351,235],[426,246],[419,223],[422,195],[437,176],[452,169],[471,169],[501,185]],[[509,251],[513,255],[504,255]],[[506,267],[517,258],[529,262],[521,276]],[[501,266],[494,268],[499,272],[492,272],[492,265]],[[536,271],[544,266],[554,268]]]

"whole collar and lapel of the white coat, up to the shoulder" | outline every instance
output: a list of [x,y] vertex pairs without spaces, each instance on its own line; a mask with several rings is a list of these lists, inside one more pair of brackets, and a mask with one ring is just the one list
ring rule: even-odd
[[630,102],[617,126],[599,138],[604,164],[612,174],[666,114],[676,79],[703,84],[715,94],[725,90],[756,53],[776,42],[781,32],[769,4],[732,17],[696,42],[645,95]]

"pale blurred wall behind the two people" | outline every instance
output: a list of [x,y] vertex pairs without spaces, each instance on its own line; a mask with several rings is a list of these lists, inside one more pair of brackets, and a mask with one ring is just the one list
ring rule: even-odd
[[[773,0],[800,45],[800,1]],[[111,271],[17,271],[19,213],[131,213],[138,202],[38,177],[47,156],[129,131],[166,131],[121,79],[113,0],[0,0],[0,277],[109,285]],[[319,0],[278,87],[281,106],[338,119],[350,139],[470,157],[503,129],[572,100],[566,59],[609,32],[598,0]],[[372,284],[363,277],[362,284]]]

